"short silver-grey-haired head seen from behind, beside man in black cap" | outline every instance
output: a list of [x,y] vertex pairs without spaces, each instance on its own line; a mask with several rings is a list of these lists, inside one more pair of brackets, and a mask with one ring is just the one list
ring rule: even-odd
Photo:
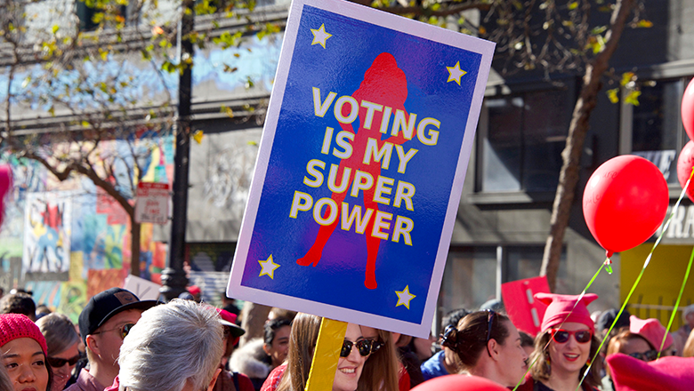
[[213,307],[173,299],[149,308],[120,347],[117,389],[210,391],[220,372],[223,333]]

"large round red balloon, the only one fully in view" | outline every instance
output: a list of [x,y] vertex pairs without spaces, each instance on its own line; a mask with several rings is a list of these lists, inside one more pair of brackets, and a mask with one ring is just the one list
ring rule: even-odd
[[617,156],[598,167],[585,185],[583,216],[611,257],[652,236],[668,202],[666,180],[655,164],[640,156]]

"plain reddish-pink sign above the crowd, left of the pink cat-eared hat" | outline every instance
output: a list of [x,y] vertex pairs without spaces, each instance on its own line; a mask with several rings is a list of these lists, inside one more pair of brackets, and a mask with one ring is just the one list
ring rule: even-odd
[[518,330],[525,331],[532,337],[540,332],[540,323],[547,308],[533,297],[538,292],[550,292],[544,275],[501,284],[501,296],[504,298],[508,317]]

